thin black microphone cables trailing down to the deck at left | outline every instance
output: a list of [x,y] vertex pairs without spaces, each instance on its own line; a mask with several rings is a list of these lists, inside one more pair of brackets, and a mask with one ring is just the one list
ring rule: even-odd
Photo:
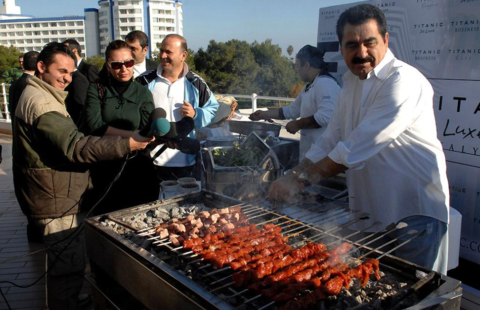
[[[136,156],[136,153],[134,156],[132,156],[130,158],[129,156],[130,154],[127,154],[126,158],[125,158],[125,161],[123,162],[122,164],[122,168],[120,169],[119,173],[117,174],[117,176],[115,176],[115,178],[110,182],[110,184],[108,185],[108,188],[107,190],[105,191],[105,193],[100,197],[100,199],[98,199],[98,201],[93,205],[93,207],[91,207],[91,209],[87,212],[87,214],[85,215],[85,217],[82,219],[82,221],[80,222],[80,224],[75,228],[75,230],[70,233],[67,237],[59,240],[59,241],[56,241],[55,243],[53,243],[52,245],[50,245],[49,247],[45,248],[45,249],[42,249],[42,250],[38,250],[38,251],[34,251],[32,253],[29,253],[29,254],[25,254],[25,255],[22,255],[22,256],[18,256],[18,257],[14,257],[14,258],[10,258],[8,260],[5,260],[5,261],[2,261],[0,262],[0,264],[3,264],[7,261],[13,261],[13,260],[16,260],[16,259],[19,259],[19,258],[23,258],[23,257],[26,257],[26,256],[30,256],[30,255],[33,255],[33,254],[36,254],[36,253],[39,253],[39,252],[42,252],[42,251],[46,251],[47,249],[50,249],[52,246],[60,243],[60,242],[63,242],[65,240],[67,240],[68,238],[72,237],[75,233],[77,233],[77,235],[73,236],[72,239],[67,243],[67,245],[60,251],[60,253],[57,254],[57,256],[55,257],[55,259],[53,260],[53,262],[51,263],[50,266],[47,266],[47,268],[45,269],[45,272],[38,278],[36,279],[33,283],[31,284],[28,284],[28,285],[18,285],[16,283],[13,283],[11,281],[0,281],[0,284],[2,283],[9,283],[9,284],[12,284],[13,286],[16,286],[16,287],[19,287],[19,288],[28,288],[32,285],[35,285],[38,281],[40,281],[47,273],[48,271],[55,265],[56,261],[58,260],[58,258],[61,256],[61,254],[65,251],[65,249],[68,248],[68,246],[70,246],[70,244],[73,242],[73,240],[75,240],[79,235],[80,233],[82,232],[82,230],[85,228],[85,225],[84,225],[84,221],[85,219],[88,218],[88,216],[91,214],[91,212],[96,208],[96,206],[105,198],[105,196],[108,194],[108,192],[110,191],[110,189],[112,188],[112,185],[113,183],[119,179],[119,177],[121,176],[122,172],[124,171],[125,169],[125,165],[127,164],[127,161],[129,161],[131,158],[135,157]],[[84,192],[85,194],[85,192]],[[70,210],[72,210],[76,205],[78,205],[80,203],[80,201],[83,199],[83,196],[84,194],[82,194],[80,200],[75,204],[73,205],[69,210],[67,210],[66,212],[64,212],[60,217],[58,218],[61,218],[62,216],[64,216],[67,212],[69,212]],[[56,219],[58,219],[56,218]],[[46,225],[48,225],[50,222],[52,222],[53,220],[55,219],[51,219],[50,221],[48,221]],[[72,224],[73,224],[73,220],[72,220]],[[11,310],[10,308],[10,305],[8,304],[8,301],[5,297],[5,295],[3,294],[3,291],[1,290],[1,285],[0,285],[0,293],[1,293],[1,296],[3,297],[3,300],[5,301],[7,307],[9,310]]]

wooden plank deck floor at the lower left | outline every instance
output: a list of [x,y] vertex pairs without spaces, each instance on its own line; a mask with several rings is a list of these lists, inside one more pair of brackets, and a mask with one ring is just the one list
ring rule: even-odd
[[[27,220],[13,190],[11,136],[0,133],[0,144],[3,147],[0,164],[0,282],[28,286],[20,288],[0,283],[1,291],[11,309],[45,310],[45,278],[33,284],[44,274],[44,245],[27,241]],[[35,255],[15,259],[39,250],[41,252]],[[84,284],[82,293],[88,292],[89,287]],[[0,296],[0,310],[4,309],[9,308]]]

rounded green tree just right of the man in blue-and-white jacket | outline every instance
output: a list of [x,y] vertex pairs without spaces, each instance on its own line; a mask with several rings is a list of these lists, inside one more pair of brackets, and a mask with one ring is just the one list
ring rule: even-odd
[[252,81],[256,78],[260,66],[255,62],[251,46],[246,41],[210,41],[207,50],[200,48],[195,54],[195,67],[199,74],[203,73],[215,92],[256,91]]

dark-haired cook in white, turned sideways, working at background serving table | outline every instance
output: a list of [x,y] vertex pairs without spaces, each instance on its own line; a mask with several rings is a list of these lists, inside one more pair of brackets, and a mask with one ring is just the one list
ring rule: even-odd
[[307,84],[291,105],[250,114],[252,121],[293,120],[287,123],[286,130],[292,134],[301,131],[300,160],[305,159],[306,151],[327,128],[340,92],[337,80],[326,70],[323,54],[311,45],[305,45],[297,53],[295,69],[300,79]]

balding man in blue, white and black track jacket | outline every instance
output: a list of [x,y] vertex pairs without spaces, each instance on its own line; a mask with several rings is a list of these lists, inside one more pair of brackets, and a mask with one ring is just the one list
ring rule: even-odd
[[[150,89],[155,107],[165,109],[167,120],[176,122],[185,116],[193,118],[195,128],[212,123],[218,102],[207,83],[188,70],[185,63],[187,43],[185,38],[171,34],[165,37],[160,48],[160,65],[157,70],[146,71],[136,81]],[[195,138],[192,131],[190,137]],[[150,152],[154,156],[161,146]],[[154,159],[158,176],[162,180],[188,177],[193,171],[195,155],[167,149]]]

